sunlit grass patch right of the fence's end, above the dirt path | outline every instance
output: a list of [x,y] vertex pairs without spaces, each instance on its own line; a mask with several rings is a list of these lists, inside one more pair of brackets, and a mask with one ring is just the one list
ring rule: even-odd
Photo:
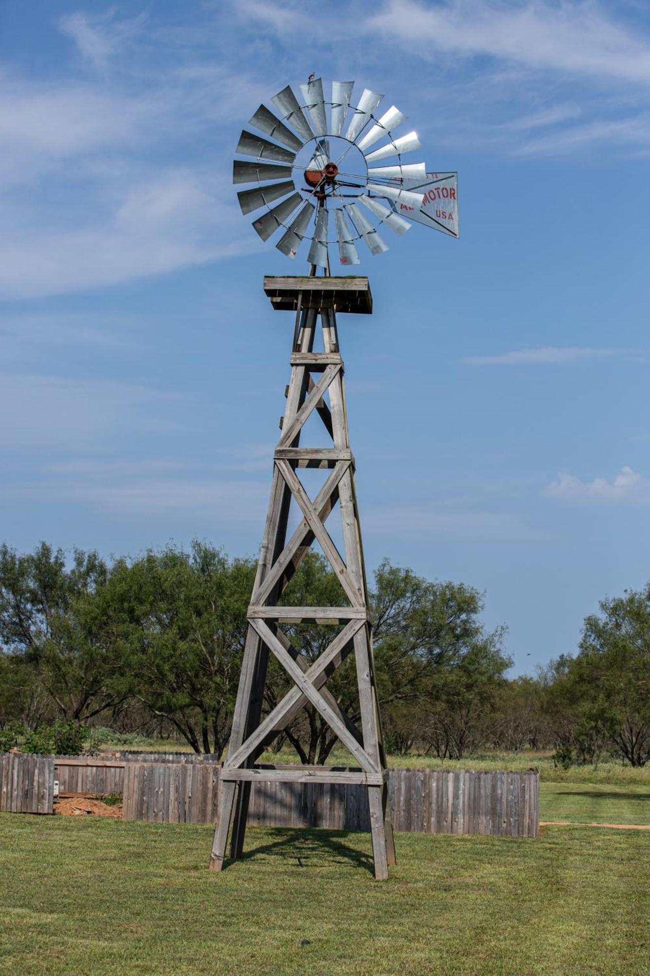
[[540,783],[540,820],[650,825],[650,788],[602,783]]

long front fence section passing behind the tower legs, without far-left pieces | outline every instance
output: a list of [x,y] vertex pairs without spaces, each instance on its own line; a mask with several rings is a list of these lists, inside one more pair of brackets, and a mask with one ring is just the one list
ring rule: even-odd
[[[130,764],[124,819],[214,824],[218,789],[217,765]],[[513,837],[538,833],[536,772],[391,769],[388,792],[396,831]],[[253,783],[249,823],[368,831],[368,794],[352,784]]]

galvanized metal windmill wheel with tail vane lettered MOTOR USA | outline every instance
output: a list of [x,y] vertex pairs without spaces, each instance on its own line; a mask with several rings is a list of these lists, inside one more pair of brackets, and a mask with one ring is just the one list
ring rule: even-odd
[[415,131],[395,134],[403,112],[380,109],[384,96],[368,88],[355,97],[352,81],[333,81],[329,101],[314,75],[298,90],[274,95],[274,111],[260,105],[249,125],[264,135],[245,129],[235,149],[247,158],[235,158],[233,183],[253,184],[239,205],[264,210],[253,221],[264,241],[278,232],[275,246],[291,259],[306,241],[307,262],[329,269],[335,247],[344,266],[360,264],[360,241],[383,254],[385,228],[401,236],[415,222],[459,236],[458,174],[403,162],[421,148]]

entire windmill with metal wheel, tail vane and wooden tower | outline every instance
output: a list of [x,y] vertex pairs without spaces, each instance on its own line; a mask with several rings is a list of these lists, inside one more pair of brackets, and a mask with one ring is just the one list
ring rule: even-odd
[[[243,214],[257,213],[253,227],[264,241],[278,233],[276,247],[295,259],[305,243],[308,275],[264,277],[264,292],[278,310],[296,313],[291,380],[281,435],[273,455],[270,500],[260,561],[248,608],[248,631],[232,731],[221,772],[219,816],[210,866],[223,866],[228,833],[230,857],[241,857],[251,784],[357,784],[367,788],[375,875],[388,876],[395,863],[387,793],[386,753],[375,680],[372,621],[368,607],[361,529],[345,410],[344,364],[337,312],[369,314],[372,296],[365,277],[330,274],[335,247],[342,265],[359,264],[357,245],[371,255],[387,250],[380,232],[398,236],[411,222],[458,237],[456,173],[427,173],[424,163],[402,157],[420,148],[415,132],[395,137],[406,121],[394,105],[379,109],[384,96],[354,82],[332,82],[325,101],[320,78],[274,95],[250,119],[263,135],[244,130],[236,147],[233,183],[252,184],[237,195]],[[387,163],[385,162],[387,160]],[[261,213],[258,213],[261,212]],[[333,216],[333,220],[330,218]],[[281,231],[281,233],[280,233]],[[335,234],[336,236],[332,236]],[[317,275],[317,269],[322,274]],[[316,350],[320,322],[322,351]],[[332,446],[301,446],[310,418],[319,417]],[[314,498],[297,471],[328,471]],[[289,534],[289,514],[299,524]],[[343,554],[325,527],[339,508]],[[288,606],[282,594],[312,544],[317,543],[341,584],[341,605]],[[292,625],[314,622],[331,640],[315,661],[305,660],[290,639]],[[326,688],[327,678],[354,655],[361,728]],[[282,701],[262,716],[264,682],[272,654],[293,681]],[[354,767],[262,764],[264,749],[310,704],[358,763]]]

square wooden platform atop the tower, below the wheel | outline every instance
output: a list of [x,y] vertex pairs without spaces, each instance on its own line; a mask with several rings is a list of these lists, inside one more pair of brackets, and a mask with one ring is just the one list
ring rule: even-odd
[[264,294],[273,308],[280,311],[296,311],[299,295],[301,308],[333,308],[336,312],[349,311],[356,315],[370,315],[373,310],[367,278],[265,275]]

